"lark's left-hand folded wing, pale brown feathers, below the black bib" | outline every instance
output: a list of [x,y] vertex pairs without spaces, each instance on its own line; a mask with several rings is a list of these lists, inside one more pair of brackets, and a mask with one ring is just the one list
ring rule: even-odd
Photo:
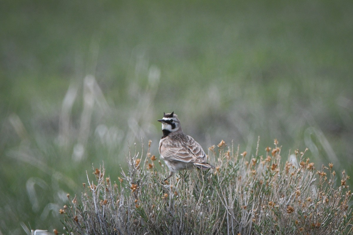
[[183,146],[181,142],[169,142],[161,141],[159,146],[159,152],[164,159],[168,161],[179,161],[179,162],[195,162],[195,156],[193,156],[187,148]]

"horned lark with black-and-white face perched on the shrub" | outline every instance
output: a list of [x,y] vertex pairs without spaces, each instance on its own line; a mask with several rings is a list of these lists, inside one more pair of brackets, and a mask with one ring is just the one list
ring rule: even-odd
[[162,123],[163,132],[159,142],[159,153],[170,170],[168,178],[174,172],[193,166],[200,169],[214,168],[207,163],[207,156],[201,145],[181,130],[180,121],[174,112],[163,113],[163,118],[158,122]]

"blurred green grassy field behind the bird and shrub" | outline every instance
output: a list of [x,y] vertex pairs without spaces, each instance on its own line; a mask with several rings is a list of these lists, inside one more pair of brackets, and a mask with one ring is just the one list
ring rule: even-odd
[[[163,111],[204,148],[248,156],[277,138],[352,175],[351,1],[4,1],[0,9],[0,232],[61,227],[66,193]],[[92,75],[94,77],[87,77]],[[340,176],[340,174],[337,174]],[[352,185],[352,180],[348,182]]]

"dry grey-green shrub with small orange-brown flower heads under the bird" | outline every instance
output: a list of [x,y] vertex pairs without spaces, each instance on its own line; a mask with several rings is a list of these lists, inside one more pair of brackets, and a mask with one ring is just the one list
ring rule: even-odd
[[68,195],[63,233],[352,234],[344,171],[337,183],[333,164],[316,169],[299,150],[281,163],[276,140],[258,151],[249,157],[222,141],[209,148],[214,170],[183,171],[169,182],[150,148],[142,158],[130,153],[121,177],[110,179],[101,166],[80,197]]

